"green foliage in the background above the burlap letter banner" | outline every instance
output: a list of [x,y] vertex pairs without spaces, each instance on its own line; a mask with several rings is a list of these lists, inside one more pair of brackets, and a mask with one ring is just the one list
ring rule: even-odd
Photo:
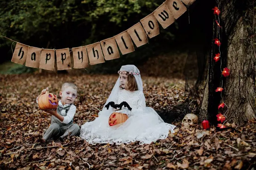
[[[58,31],[76,35],[76,30],[84,27],[87,30],[82,35],[86,37],[84,43],[94,43],[102,40],[102,35],[109,38],[128,29],[161,3],[160,0],[8,0],[0,7],[0,27],[3,35],[31,43],[34,37],[46,41],[47,34],[52,36],[49,41],[60,42],[63,38],[55,36]],[[113,28],[116,31],[108,32]]]

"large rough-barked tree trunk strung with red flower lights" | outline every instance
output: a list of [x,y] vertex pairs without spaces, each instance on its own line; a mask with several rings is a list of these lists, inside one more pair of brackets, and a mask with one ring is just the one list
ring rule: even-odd
[[[251,0],[218,0],[221,14],[215,20],[220,20],[221,29],[214,20],[213,38],[221,41],[221,60],[213,60],[219,48],[212,44],[209,55],[209,70],[207,88],[204,91],[202,109],[206,108],[216,120],[216,114],[226,113],[227,121],[243,124],[255,118],[255,47],[253,42],[254,29],[248,29],[248,24],[254,26],[253,3]],[[218,4],[216,4],[218,6]],[[248,10],[248,9],[251,9]],[[247,11],[245,13],[244,11]],[[247,20],[245,20],[245,18]],[[251,21],[246,23],[246,21]],[[220,37],[218,36],[220,35]],[[230,76],[221,75],[223,68],[230,69]],[[215,92],[217,87],[222,87],[222,92]],[[218,110],[220,103],[225,103],[223,109]],[[228,110],[227,110],[228,107]]]

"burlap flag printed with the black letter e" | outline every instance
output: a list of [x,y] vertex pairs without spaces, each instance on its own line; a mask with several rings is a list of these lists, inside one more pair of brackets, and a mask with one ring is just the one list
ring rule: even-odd
[[168,6],[168,9],[172,12],[175,19],[187,11],[187,8],[180,0],[166,0],[164,3]]

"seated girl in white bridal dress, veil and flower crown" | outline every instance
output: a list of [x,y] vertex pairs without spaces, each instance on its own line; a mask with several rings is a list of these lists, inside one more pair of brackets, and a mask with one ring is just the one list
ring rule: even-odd
[[[154,109],[146,107],[139,69],[135,65],[123,65],[118,73],[119,78],[105,105],[125,101],[132,108],[131,111],[126,108],[119,111],[107,109],[104,105],[99,117],[81,126],[80,137],[90,144],[128,144],[135,141],[150,144],[158,139],[166,139],[169,130],[174,133],[174,125],[165,123]],[[108,118],[113,112],[127,114],[129,118],[119,127],[109,126]]]

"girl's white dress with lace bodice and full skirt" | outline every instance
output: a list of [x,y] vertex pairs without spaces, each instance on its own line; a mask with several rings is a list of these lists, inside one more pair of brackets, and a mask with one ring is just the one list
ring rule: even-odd
[[112,97],[116,104],[127,102],[132,108],[128,120],[121,126],[109,126],[108,118],[112,111],[102,109],[99,117],[81,126],[80,137],[90,144],[96,143],[130,143],[140,141],[140,144],[150,144],[158,139],[166,139],[169,130],[174,133],[175,126],[165,123],[150,107],[146,107],[142,91],[118,90],[117,96]]

